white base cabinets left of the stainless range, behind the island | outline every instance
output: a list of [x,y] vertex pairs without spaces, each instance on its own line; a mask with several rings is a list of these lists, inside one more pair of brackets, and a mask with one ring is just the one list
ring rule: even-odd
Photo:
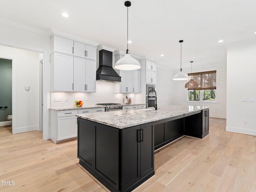
[[105,108],[75,109],[56,111],[50,110],[51,140],[63,142],[77,137],[76,114],[104,112]]

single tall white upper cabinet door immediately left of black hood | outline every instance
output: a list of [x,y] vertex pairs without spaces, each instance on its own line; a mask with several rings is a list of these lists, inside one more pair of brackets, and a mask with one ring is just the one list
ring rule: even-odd
[[96,61],[86,60],[86,92],[96,92]]

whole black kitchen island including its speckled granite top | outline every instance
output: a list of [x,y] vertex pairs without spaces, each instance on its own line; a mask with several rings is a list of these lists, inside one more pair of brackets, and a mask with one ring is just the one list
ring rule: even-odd
[[183,135],[209,133],[209,108],[165,106],[78,116],[79,163],[112,192],[130,192],[154,175],[154,150]]

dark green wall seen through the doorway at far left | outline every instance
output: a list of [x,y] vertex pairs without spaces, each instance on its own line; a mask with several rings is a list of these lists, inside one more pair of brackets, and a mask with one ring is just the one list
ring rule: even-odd
[[12,114],[12,60],[0,58],[0,122],[8,121],[7,116]]

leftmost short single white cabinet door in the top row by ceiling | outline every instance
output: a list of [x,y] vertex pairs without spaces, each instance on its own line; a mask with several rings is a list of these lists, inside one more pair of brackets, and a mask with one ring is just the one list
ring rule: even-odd
[[74,41],[54,36],[54,51],[64,54],[73,55]]

